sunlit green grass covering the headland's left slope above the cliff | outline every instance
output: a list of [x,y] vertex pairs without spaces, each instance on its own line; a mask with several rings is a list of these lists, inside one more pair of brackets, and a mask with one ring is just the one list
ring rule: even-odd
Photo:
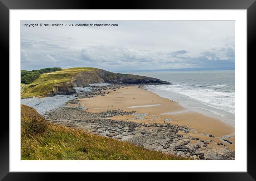
[[43,96],[50,92],[56,84],[70,81],[72,75],[94,69],[92,67],[75,67],[41,74],[38,79],[23,87],[21,97]]

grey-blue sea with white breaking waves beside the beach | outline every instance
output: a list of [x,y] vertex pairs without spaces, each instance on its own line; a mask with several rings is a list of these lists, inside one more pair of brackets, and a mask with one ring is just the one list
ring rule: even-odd
[[143,71],[127,74],[168,81],[172,85],[147,85],[144,89],[175,100],[189,110],[235,126],[235,70]]

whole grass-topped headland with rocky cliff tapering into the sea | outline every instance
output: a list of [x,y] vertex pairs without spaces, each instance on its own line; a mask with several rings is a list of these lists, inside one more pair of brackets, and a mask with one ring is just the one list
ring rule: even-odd
[[21,89],[21,97],[41,97],[76,93],[74,87],[94,83],[110,84],[171,84],[153,77],[117,74],[93,67],[75,67],[41,74]]

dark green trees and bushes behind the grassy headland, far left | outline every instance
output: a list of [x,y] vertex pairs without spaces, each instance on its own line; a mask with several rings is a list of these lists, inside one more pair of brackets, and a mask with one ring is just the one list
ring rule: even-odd
[[30,84],[34,80],[36,80],[40,74],[48,73],[48,72],[55,72],[55,71],[60,71],[60,67],[50,67],[50,68],[45,68],[45,69],[40,69],[40,70],[32,70],[32,71],[27,71],[27,70],[21,70],[20,71],[20,82],[24,84]]

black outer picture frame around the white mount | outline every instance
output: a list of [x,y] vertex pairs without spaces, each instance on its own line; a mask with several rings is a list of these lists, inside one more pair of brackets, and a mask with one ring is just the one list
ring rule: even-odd
[[[90,1],[90,0],[0,0],[0,29],[1,29],[1,51],[3,57],[9,60],[9,10],[12,9],[247,9],[247,82],[253,82],[252,59],[254,54],[253,44],[256,42],[256,2],[255,0],[130,0],[130,1]],[[248,66],[248,64],[250,66]],[[7,75],[7,74],[6,74]],[[11,82],[9,82],[10,84]],[[9,92],[9,86],[1,89],[2,95]],[[247,96],[255,95],[256,89],[250,85],[247,87]],[[11,95],[9,95],[11,96]],[[250,102],[255,101],[250,96]],[[7,109],[7,107],[6,107]],[[8,106],[9,109],[9,106]],[[253,112],[253,106],[247,112]],[[7,110],[6,110],[7,112]],[[247,121],[247,120],[239,120]],[[52,180],[54,176],[65,177],[65,173],[21,173],[9,172],[9,123],[2,120],[0,131],[0,180]],[[255,139],[253,132],[254,120],[247,121],[247,173],[246,172],[221,172],[221,173],[189,173],[189,180],[256,180],[256,154]],[[80,173],[82,174],[82,173]],[[172,173],[172,176],[178,173]],[[182,173],[186,177],[186,173]],[[97,174],[95,174],[97,176]],[[129,179],[124,176],[124,179]],[[131,179],[131,178],[130,178]]]

